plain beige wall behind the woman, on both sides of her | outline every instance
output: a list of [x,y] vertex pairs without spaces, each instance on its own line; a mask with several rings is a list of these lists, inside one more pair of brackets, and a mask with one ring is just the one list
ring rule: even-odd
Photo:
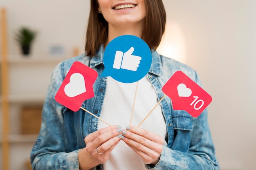
[[[161,53],[194,68],[213,97],[209,124],[222,169],[256,169],[256,1],[163,0],[167,29]],[[1,0],[8,10],[9,51],[19,53],[13,32],[39,30],[34,54],[61,44],[66,55],[83,51],[89,0]]]

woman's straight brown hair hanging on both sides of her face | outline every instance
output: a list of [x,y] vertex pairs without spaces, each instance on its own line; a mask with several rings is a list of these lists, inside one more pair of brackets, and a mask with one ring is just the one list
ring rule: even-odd
[[[165,30],[166,13],[162,0],[145,0],[146,18],[141,36],[150,49],[156,49],[160,44]],[[87,56],[94,56],[101,44],[108,39],[108,22],[98,12],[97,0],[91,0],[88,27],[85,38]]]

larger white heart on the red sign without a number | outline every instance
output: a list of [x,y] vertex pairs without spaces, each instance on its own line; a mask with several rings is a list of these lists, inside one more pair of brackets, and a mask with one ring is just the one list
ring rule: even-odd
[[64,87],[64,92],[68,97],[75,97],[86,92],[84,77],[80,73],[70,76],[70,83]]

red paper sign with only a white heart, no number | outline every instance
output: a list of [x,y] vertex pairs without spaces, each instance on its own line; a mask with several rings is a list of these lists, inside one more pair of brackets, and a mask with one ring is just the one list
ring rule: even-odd
[[55,95],[56,102],[78,111],[85,100],[94,97],[93,84],[97,77],[97,71],[74,62]]

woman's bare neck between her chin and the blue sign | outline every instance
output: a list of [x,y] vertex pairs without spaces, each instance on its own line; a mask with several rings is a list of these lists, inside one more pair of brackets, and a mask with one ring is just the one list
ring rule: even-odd
[[142,36],[143,25],[120,25],[120,26],[113,26],[112,24],[108,24],[108,41],[106,45],[113,40],[114,38],[121,36],[121,35],[135,35],[139,38]]

